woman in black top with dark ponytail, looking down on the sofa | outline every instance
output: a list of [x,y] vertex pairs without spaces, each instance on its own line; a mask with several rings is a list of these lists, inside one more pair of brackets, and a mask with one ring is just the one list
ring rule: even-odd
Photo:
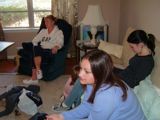
[[136,55],[129,60],[127,68],[124,70],[115,68],[115,71],[118,71],[122,80],[134,88],[151,73],[154,67],[155,37],[143,30],[135,30],[129,35],[127,41]]

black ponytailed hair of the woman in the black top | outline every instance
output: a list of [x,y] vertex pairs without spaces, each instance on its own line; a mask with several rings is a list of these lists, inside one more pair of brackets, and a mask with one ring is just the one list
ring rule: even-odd
[[127,41],[129,43],[138,44],[144,43],[155,54],[155,37],[153,34],[147,34],[144,30],[135,30],[129,36]]

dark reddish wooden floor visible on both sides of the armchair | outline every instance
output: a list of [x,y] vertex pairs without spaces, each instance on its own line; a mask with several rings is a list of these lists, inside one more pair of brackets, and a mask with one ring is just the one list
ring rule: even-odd
[[[67,58],[65,74],[71,74],[72,67],[75,64],[76,64],[75,58]],[[14,60],[0,60],[0,73],[14,73],[16,71],[17,71],[17,68]]]

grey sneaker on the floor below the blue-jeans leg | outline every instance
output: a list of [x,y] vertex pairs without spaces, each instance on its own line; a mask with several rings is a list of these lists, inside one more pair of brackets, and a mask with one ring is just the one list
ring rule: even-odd
[[63,111],[68,111],[71,108],[68,106],[63,106],[63,104],[56,104],[55,106],[52,106],[52,110],[54,112],[63,112]]

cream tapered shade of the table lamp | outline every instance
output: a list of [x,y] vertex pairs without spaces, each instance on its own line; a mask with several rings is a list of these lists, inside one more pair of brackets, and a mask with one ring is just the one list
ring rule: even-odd
[[106,22],[103,18],[102,11],[99,5],[89,5],[85,17],[81,21],[84,25],[105,25]]

